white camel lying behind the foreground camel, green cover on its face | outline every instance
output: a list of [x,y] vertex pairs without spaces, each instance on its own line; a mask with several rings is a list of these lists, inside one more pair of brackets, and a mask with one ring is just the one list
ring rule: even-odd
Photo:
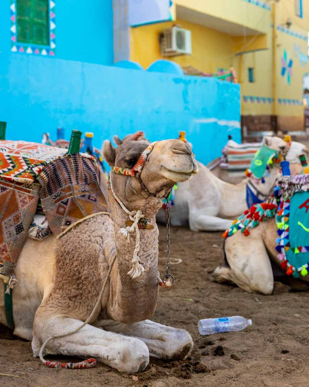
[[[263,144],[287,153],[287,143],[279,137],[264,137]],[[293,165],[291,166],[293,168]],[[192,231],[224,231],[247,209],[246,185],[255,187],[264,199],[272,191],[280,165],[273,163],[265,183],[255,182],[255,178],[244,179],[239,184],[226,183],[199,163],[199,174],[188,182],[178,184],[175,191],[175,205],[170,207],[170,222],[173,226],[190,227]],[[158,212],[157,220],[164,222],[165,211]]]

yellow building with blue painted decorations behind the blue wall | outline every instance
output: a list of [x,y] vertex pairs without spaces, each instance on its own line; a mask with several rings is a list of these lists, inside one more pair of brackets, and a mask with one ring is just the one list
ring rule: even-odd
[[[307,0],[174,0],[173,11],[174,21],[130,28],[128,59],[147,68],[165,58],[206,74],[233,66],[244,132],[304,130]],[[162,53],[162,34],[175,25],[191,31],[191,55]]]

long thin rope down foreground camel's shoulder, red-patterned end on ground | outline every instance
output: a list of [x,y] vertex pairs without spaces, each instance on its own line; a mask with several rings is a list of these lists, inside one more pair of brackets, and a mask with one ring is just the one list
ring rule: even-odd
[[65,336],[72,335],[73,333],[76,333],[79,330],[81,330],[81,328],[83,328],[85,325],[87,325],[92,320],[92,318],[93,318],[93,316],[95,314],[95,311],[97,310],[98,306],[100,305],[100,302],[101,302],[101,299],[102,299],[102,295],[103,295],[104,290],[106,288],[107,281],[109,280],[110,273],[112,271],[112,267],[113,267],[113,265],[115,263],[116,258],[117,258],[117,254],[115,254],[114,258],[112,259],[112,262],[111,262],[111,264],[109,266],[109,270],[107,272],[107,275],[105,277],[105,280],[104,280],[104,283],[103,283],[103,286],[102,286],[102,290],[100,292],[100,295],[98,296],[97,303],[95,304],[95,307],[93,308],[92,312],[90,313],[90,316],[88,317],[88,319],[85,322],[83,322],[83,324],[81,324],[79,327],[71,330],[70,332],[48,337],[48,339],[46,339],[44,341],[44,343],[42,344],[40,352],[39,352],[39,357],[40,357],[40,360],[42,361],[42,363],[44,363],[48,367],[50,367],[50,368],[72,368],[72,369],[74,369],[74,368],[92,368],[95,365],[97,365],[97,361],[95,359],[93,359],[93,358],[90,358],[90,359],[87,359],[87,360],[84,360],[84,361],[80,361],[78,363],[58,363],[57,361],[44,360],[43,351],[44,351],[46,345],[51,340],[59,339],[60,337],[65,337]]

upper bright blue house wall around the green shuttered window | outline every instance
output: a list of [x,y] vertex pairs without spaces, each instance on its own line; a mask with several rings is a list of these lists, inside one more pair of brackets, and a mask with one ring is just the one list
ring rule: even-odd
[[[112,65],[114,63],[112,0],[54,0],[54,2],[55,58]],[[10,0],[1,0],[0,53],[9,55],[10,49]],[[42,58],[43,62],[45,59]]]

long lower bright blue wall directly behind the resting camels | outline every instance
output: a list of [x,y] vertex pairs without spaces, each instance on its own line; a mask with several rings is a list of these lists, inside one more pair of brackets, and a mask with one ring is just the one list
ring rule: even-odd
[[153,141],[185,130],[207,163],[228,134],[241,140],[240,90],[211,78],[2,52],[0,121],[8,123],[7,139],[41,142],[42,132],[55,138],[61,126],[67,139],[72,128],[94,132],[97,147],[114,134],[144,130]]

